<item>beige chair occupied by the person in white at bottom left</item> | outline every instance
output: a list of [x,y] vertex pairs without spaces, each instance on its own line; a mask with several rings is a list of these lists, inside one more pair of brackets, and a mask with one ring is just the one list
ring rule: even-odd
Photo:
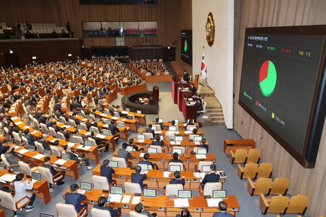
[[[25,199],[26,199],[26,201],[22,202]],[[25,206],[31,202],[31,199],[27,196],[16,201],[10,193],[3,192],[3,191],[0,191],[0,200],[1,200],[1,206],[6,209],[14,211],[15,217],[20,217],[21,215],[19,213],[17,213],[17,211],[19,209],[21,209],[23,206]]]

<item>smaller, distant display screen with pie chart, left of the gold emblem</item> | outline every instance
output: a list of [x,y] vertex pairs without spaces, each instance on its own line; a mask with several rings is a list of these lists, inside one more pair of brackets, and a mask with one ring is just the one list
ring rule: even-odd
[[193,31],[181,30],[181,60],[193,64]]

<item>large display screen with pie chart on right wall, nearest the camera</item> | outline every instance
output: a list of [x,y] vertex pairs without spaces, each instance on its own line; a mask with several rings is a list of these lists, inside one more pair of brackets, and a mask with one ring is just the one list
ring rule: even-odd
[[294,157],[307,147],[324,38],[246,33],[239,104]]

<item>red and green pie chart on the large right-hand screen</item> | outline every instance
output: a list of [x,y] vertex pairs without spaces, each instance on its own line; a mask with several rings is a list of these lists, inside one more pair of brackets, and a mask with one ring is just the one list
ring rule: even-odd
[[267,60],[263,63],[259,72],[259,86],[262,94],[266,97],[273,94],[276,86],[276,68],[273,62]]

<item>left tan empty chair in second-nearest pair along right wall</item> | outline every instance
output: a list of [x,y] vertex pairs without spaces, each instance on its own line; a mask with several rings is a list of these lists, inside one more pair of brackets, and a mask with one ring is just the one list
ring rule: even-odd
[[265,194],[267,195],[271,188],[270,178],[260,178],[257,181],[252,181],[248,179],[247,189],[250,196]]

